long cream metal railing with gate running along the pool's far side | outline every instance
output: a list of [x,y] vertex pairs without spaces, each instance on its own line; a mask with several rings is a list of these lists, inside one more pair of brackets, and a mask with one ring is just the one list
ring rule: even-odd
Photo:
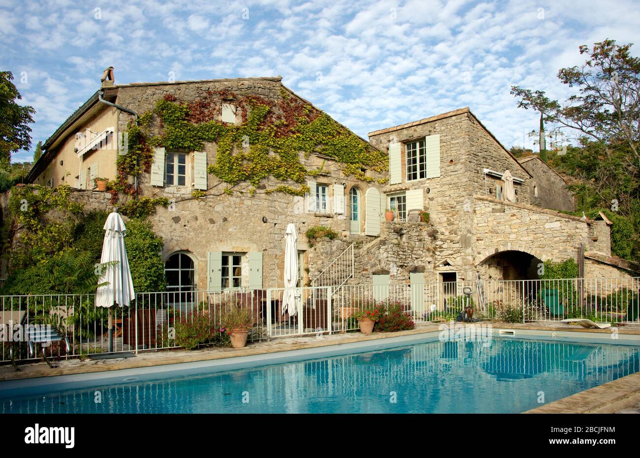
[[[463,290],[470,288],[470,296]],[[286,296],[296,313],[284,310]],[[291,302],[294,301],[294,302]],[[468,302],[467,302],[468,301]],[[178,347],[189,333],[211,334],[207,345],[225,345],[223,314],[231,306],[251,310],[250,341],[359,329],[353,316],[366,308],[396,307],[416,323],[456,320],[470,303],[474,318],[508,322],[588,318],[613,326],[640,324],[640,278],[469,280],[450,283],[340,285],[255,290],[151,292],[111,310],[113,351]],[[29,326],[55,326],[70,349],[52,342],[47,354],[69,358],[108,351],[109,310],[95,295],[0,296],[0,346],[9,361],[38,359],[28,351]]]

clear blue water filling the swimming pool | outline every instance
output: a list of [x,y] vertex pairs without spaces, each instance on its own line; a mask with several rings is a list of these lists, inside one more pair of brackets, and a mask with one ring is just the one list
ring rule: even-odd
[[640,347],[436,341],[17,396],[0,413],[519,413],[639,370]]

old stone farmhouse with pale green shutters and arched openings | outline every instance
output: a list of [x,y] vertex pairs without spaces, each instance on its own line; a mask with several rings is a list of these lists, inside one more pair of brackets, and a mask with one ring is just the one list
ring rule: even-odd
[[[573,210],[562,178],[538,157],[513,157],[470,109],[374,130],[367,141],[281,79],[106,81],[47,139],[28,180],[68,184],[86,203],[110,209],[111,194],[97,191],[94,178],[118,180],[131,126],[145,125],[147,167],[124,178],[138,198],[170,201],[150,220],[164,239],[168,283],[176,291],[282,287],[288,223],[298,230],[300,285],[532,279],[541,262],[575,259],[580,246],[586,276],[633,273],[634,265],[611,257],[611,222],[557,211]],[[159,101],[184,107],[187,121],[153,114]],[[340,145],[351,145],[360,159],[324,145],[285,160],[282,151],[261,150],[250,129],[232,144],[218,133],[194,147],[175,146],[180,129],[207,122],[220,132],[244,129],[264,106],[273,129],[286,130],[307,114],[304,123],[333,123]],[[291,170],[236,182],[224,175],[266,160]],[[511,200],[503,192],[507,170]],[[386,209],[395,210],[394,221],[386,221]],[[428,223],[419,221],[419,210],[429,213]],[[337,237],[308,239],[316,226]]]

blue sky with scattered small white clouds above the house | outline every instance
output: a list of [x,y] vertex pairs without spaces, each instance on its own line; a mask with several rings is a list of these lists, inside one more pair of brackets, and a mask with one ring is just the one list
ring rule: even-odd
[[118,84],[282,75],[364,137],[468,106],[509,148],[537,120],[511,84],[566,97],[556,74],[584,61],[577,47],[613,38],[637,55],[638,24],[617,0],[0,0],[0,69],[37,110],[34,147],[113,65]]

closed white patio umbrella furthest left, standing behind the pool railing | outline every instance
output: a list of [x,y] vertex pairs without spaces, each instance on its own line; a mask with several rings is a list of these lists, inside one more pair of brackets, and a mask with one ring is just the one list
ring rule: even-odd
[[95,295],[97,307],[109,308],[109,352],[113,351],[113,325],[111,323],[111,306],[128,306],[134,299],[133,280],[129,270],[129,260],[125,249],[124,237],[127,228],[117,212],[111,212],[104,223],[104,241],[102,241],[102,267]]

